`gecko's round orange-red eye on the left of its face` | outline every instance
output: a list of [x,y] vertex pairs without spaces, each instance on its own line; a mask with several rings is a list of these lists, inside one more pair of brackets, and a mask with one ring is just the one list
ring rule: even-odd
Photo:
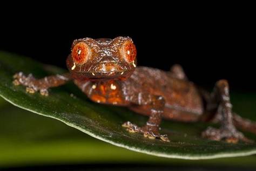
[[90,47],[84,43],[77,43],[72,49],[72,58],[76,64],[83,65],[90,57]]

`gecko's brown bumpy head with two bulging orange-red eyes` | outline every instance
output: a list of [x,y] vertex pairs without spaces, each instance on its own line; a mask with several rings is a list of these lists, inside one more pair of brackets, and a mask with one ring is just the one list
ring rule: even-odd
[[124,80],[136,68],[136,47],[130,37],[76,39],[66,64],[77,80]]

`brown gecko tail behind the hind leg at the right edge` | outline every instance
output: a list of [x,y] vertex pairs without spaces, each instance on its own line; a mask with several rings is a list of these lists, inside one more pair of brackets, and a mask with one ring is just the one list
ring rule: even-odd
[[242,131],[251,132],[256,134],[256,122],[249,119],[240,117],[238,114],[233,113],[233,122],[235,127]]

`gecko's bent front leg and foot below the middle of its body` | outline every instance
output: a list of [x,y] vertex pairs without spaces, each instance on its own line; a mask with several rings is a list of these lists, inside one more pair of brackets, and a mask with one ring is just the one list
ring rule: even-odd
[[130,121],[125,122],[122,126],[126,127],[126,130],[131,133],[142,133],[146,138],[157,138],[163,141],[169,141],[167,135],[159,134],[161,115],[163,114],[165,105],[164,98],[159,95],[151,95],[147,93],[140,93],[134,97],[131,98],[133,104],[147,105],[150,107],[150,118],[143,127],[132,124]]

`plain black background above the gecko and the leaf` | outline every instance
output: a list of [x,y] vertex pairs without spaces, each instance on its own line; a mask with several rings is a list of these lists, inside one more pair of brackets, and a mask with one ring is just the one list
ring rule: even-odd
[[66,67],[73,39],[129,36],[137,46],[138,65],[169,70],[178,63],[196,84],[213,87],[225,78],[231,90],[256,91],[255,19],[250,10],[181,6],[173,11],[175,6],[165,4],[91,6],[91,11],[79,4],[47,7],[3,12],[0,50]]

